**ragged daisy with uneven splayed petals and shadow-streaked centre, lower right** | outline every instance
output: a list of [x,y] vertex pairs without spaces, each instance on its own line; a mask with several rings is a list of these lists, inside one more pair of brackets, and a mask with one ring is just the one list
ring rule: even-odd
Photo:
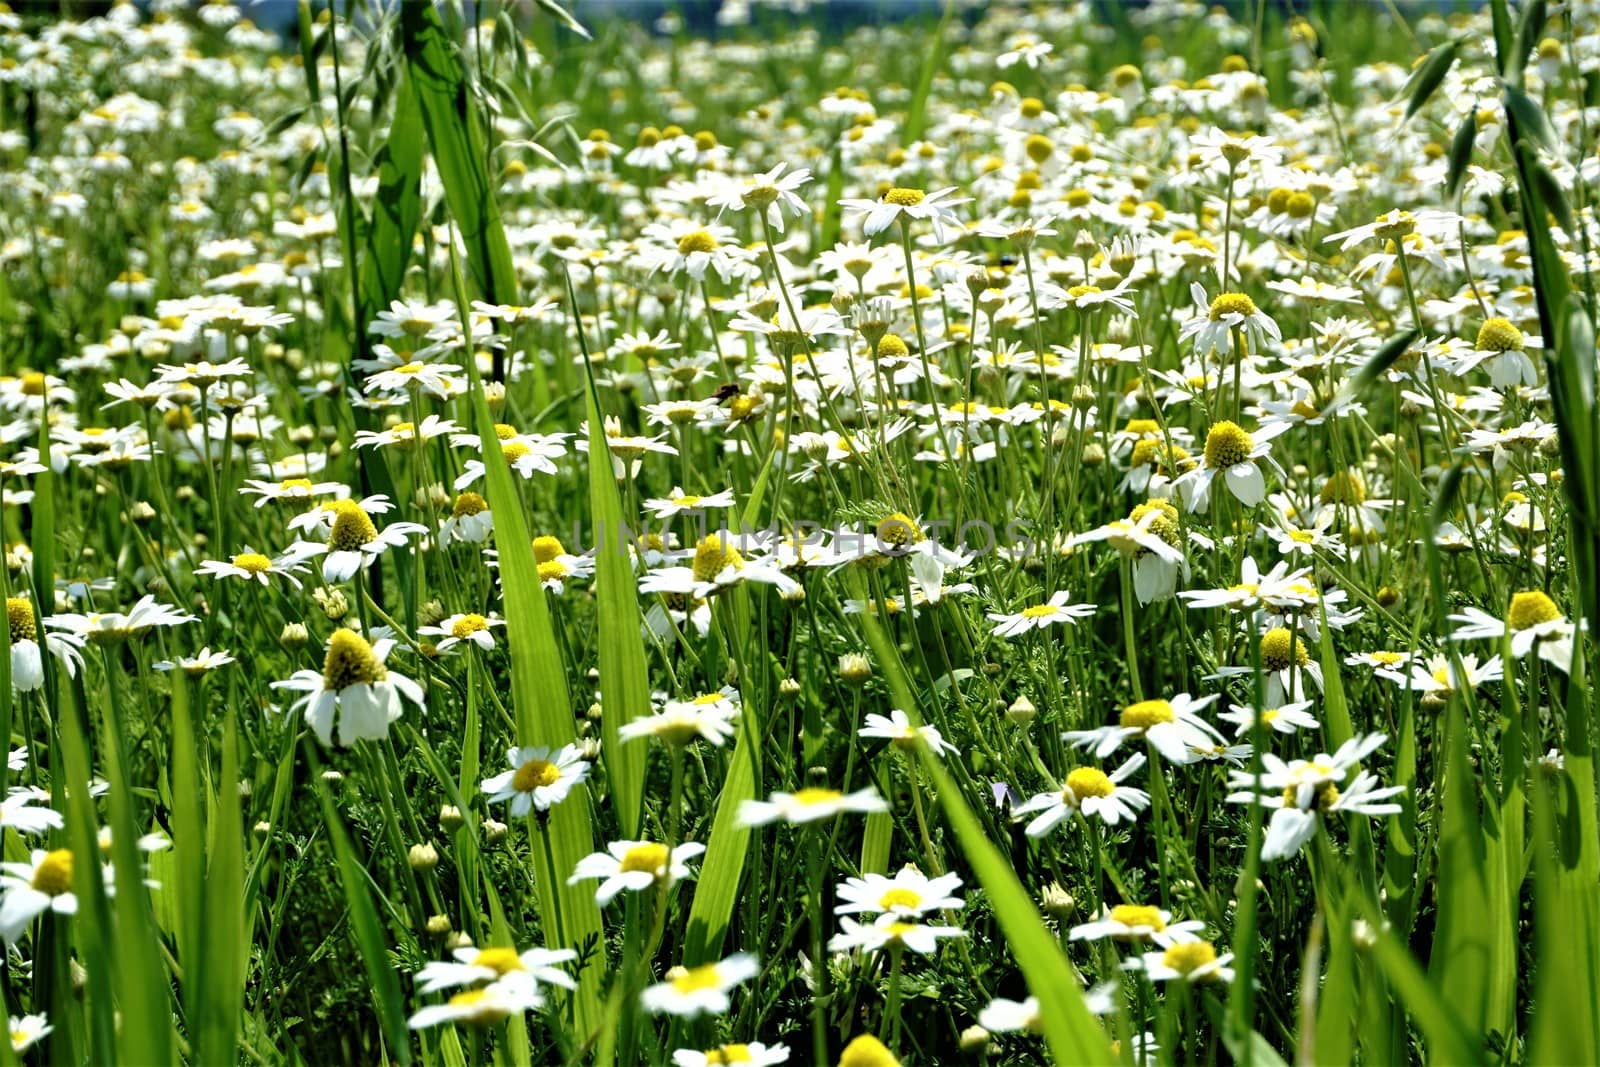
[[[1378,777],[1360,771],[1354,779],[1350,771],[1386,741],[1384,734],[1357,736],[1339,745],[1333,755],[1318,753],[1310,760],[1285,763],[1270,752],[1261,753],[1259,790],[1256,776],[1250,771],[1234,771],[1229,785],[1229,803],[1261,805],[1272,809],[1267,835],[1261,843],[1261,859],[1286,859],[1298,853],[1317,832],[1318,816],[1331,811],[1349,814],[1395,814],[1400,805],[1390,797],[1405,792],[1405,785],[1378,787]],[[1342,785],[1342,789],[1341,789]]]

